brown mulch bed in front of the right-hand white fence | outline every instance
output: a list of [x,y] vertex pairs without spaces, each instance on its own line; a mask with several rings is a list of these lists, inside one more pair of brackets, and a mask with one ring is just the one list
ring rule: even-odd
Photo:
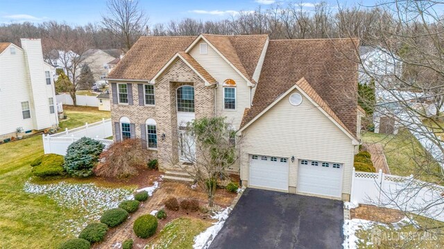
[[359,207],[351,209],[350,216],[351,218],[361,218],[386,224],[395,223],[404,218],[404,214],[398,210],[364,204],[359,204]]

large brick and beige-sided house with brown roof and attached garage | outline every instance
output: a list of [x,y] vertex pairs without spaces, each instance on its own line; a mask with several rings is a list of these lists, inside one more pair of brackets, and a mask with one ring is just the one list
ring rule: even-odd
[[142,138],[162,170],[187,163],[185,123],[223,116],[247,187],[350,199],[359,146],[357,40],[141,37],[108,75],[114,140]]

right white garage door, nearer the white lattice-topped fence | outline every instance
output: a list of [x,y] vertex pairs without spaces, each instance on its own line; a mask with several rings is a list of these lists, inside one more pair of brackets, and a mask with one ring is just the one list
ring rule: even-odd
[[343,164],[299,160],[298,192],[341,198]]

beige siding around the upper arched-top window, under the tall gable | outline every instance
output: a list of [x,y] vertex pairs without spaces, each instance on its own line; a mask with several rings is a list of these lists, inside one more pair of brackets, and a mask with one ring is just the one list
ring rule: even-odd
[[[216,89],[216,115],[226,117],[228,123],[232,123],[234,128],[239,129],[245,108],[250,108],[250,87],[247,86],[246,80],[212,49],[210,44],[207,46],[207,53],[200,54],[201,42],[198,42],[189,54],[219,83]],[[228,78],[234,80],[237,85],[236,110],[223,109],[223,81]]]

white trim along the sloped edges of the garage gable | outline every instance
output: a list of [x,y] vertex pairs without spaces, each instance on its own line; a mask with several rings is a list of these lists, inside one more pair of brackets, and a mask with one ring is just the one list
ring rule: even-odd
[[[305,78],[301,78],[300,80],[298,80],[298,83],[305,81]],[[256,115],[256,117],[254,117],[253,119],[251,119],[248,123],[246,123],[246,125],[242,128],[240,128],[237,132],[240,133],[242,131],[244,131],[248,126],[250,126],[252,123],[254,123],[257,119],[259,119],[259,117],[261,117],[265,112],[267,112],[268,110],[270,110],[271,108],[273,108],[274,105],[276,105],[279,101],[282,100],[282,98],[286,97],[289,93],[293,92],[294,89],[298,89],[298,91],[300,93],[302,93],[305,98],[307,98],[314,106],[316,106],[316,108],[318,108],[318,110],[320,110],[328,119],[330,119],[330,121],[332,121],[340,130],[342,130],[345,135],[347,135],[348,137],[350,137],[350,139],[352,139],[352,144],[353,145],[359,145],[359,141],[357,141],[357,139],[355,139],[355,137],[353,137],[350,132],[348,132],[347,130],[345,130],[336,120],[334,120],[329,114],[327,114],[327,112],[325,112],[325,110],[323,110],[323,108],[321,108],[320,105],[318,105],[312,98],[310,98],[308,96],[308,94],[306,92],[304,92],[299,86],[298,83],[296,83],[295,85],[293,85],[293,87],[290,87],[290,89],[287,90],[287,92],[284,92],[283,94],[281,94],[278,98],[275,99],[275,101],[273,101],[273,103],[271,103],[270,105],[268,105],[264,110],[262,110],[262,112],[260,112],[259,114]]]

